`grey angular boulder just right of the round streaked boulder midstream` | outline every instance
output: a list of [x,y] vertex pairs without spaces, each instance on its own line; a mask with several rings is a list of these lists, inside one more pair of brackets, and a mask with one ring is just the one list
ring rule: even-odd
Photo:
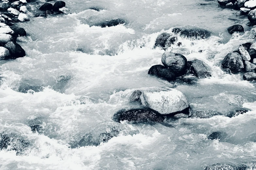
[[208,78],[212,76],[208,64],[201,60],[192,60],[187,62],[187,74],[192,74],[198,78]]

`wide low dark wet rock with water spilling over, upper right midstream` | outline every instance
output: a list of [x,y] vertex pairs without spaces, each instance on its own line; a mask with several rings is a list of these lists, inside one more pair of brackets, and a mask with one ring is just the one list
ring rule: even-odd
[[205,39],[212,35],[212,33],[203,28],[190,28],[184,29],[180,32],[182,37],[190,38],[190,39]]

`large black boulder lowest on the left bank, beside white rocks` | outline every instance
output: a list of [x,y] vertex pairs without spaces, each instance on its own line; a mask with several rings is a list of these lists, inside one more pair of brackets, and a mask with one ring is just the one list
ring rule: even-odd
[[5,48],[7,48],[9,50],[10,56],[12,59],[26,56],[26,53],[23,50],[23,48],[19,44],[15,43],[13,41],[8,42],[5,45]]

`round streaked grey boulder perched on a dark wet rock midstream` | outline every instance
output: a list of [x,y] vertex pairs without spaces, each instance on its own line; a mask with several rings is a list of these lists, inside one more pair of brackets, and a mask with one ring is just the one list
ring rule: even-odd
[[187,59],[181,54],[164,52],[162,64],[170,68],[174,73],[182,73],[186,69]]

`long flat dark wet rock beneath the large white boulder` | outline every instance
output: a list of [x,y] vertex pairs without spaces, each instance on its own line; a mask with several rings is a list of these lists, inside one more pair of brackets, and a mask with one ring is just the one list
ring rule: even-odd
[[120,121],[153,121],[162,122],[164,117],[159,113],[146,109],[130,109],[130,110],[119,110],[113,115],[113,120],[116,122]]

